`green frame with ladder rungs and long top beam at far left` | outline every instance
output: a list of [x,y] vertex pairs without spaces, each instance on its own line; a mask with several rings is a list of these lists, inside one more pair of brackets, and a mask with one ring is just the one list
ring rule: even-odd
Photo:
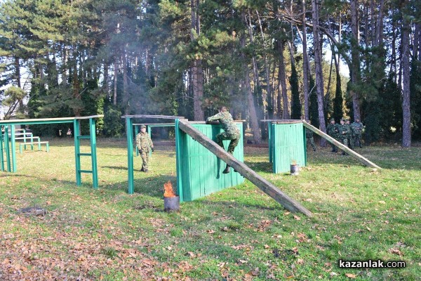
[[[2,120],[0,126],[4,125],[4,135],[0,137],[0,155],[1,155],[1,171],[4,171],[4,151],[6,151],[7,171],[17,171],[16,164],[16,147],[15,147],[15,125],[36,125],[36,124],[61,124],[73,123],[74,126],[74,158],[76,163],[76,185],[82,184],[81,174],[92,174],[92,185],[94,189],[98,189],[98,164],[96,155],[96,130],[95,118],[104,117],[104,115],[95,115],[88,117],[64,117],[64,118],[48,118],[48,119],[22,119],[22,120]],[[89,136],[81,136],[79,131],[81,119],[89,119]],[[11,128],[11,144],[8,141],[8,127]],[[91,153],[80,152],[80,140],[88,139],[91,143]],[[31,138],[33,145],[33,137]],[[39,149],[41,143],[38,143]],[[10,148],[9,148],[10,147]],[[47,150],[49,150],[47,144]],[[91,170],[81,169],[81,156],[91,157]]]

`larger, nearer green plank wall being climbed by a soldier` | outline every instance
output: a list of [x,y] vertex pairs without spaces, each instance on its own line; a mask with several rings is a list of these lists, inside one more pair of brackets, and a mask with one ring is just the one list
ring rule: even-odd
[[[215,141],[216,135],[223,131],[219,125],[192,124],[192,126],[213,141]],[[243,136],[243,124],[238,123],[237,126],[241,131],[241,136]],[[222,174],[225,169],[225,162],[218,159],[203,145],[178,129],[177,126],[176,131],[177,190],[180,201],[192,201],[243,183],[243,176],[235,173],[234,169],[231,169],[229,174]],[[228,145],[229,141],[224,141],[225,150],[227,150]],[[241,162],[244,161],[242,137],[234,150],[234,157]]]

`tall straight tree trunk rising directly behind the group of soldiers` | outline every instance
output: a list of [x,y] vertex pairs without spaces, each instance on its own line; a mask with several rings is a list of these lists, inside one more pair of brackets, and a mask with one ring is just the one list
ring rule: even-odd
[[[314,1],[314,0],[313,0]],[[358,0],[351,0],[351,30],[352,30],[352,41],[351,41],[351,57],[352,57],[352,70],[351,72],[351,83],[352,90],[350,94],[352,96],[352,107],[354,110],[354,120],[361,119],[360,117],[360,105],[359,105],[359,93],[354,90],[354,87],[359,84],[360,81],[360,53],[359,47],[359,24],[358,24]]]

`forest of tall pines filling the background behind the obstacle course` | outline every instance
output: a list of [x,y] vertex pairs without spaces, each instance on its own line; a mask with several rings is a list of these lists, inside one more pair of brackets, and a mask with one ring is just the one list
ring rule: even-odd
[[204,120],[227,105],[255,143],[261,119],[326,131],[350,117],[367,143],[408,147],[421,136],[420,58],[416,0],[0,3],[4,118],[105,114],[103,136],[123,134],[122,115]]

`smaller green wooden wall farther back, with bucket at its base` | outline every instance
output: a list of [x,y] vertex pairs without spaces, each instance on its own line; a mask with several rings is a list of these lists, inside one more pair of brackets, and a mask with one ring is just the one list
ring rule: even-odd
[[306,166],[305,129],[302,122],[290,124],[272,123],[269,133],[269,159],[272,160],[274,173],[290,171],[290,164],[295,161]]

